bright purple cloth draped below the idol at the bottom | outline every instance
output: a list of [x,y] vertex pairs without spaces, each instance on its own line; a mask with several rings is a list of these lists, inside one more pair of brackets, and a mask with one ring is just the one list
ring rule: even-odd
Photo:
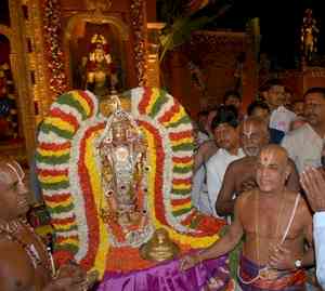
[[186,272],[180,270],[180,259],[142,270],[107,272],[98,291],[198,291],[211,277],[222,278],[223,286],[214,290],[224,290],[230,280],[226,260],[205,261]]

